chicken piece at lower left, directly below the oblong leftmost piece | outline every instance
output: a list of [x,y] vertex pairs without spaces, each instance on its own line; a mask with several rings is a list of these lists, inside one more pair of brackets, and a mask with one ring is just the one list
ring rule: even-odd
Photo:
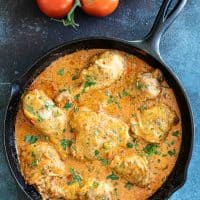
[[26,181],[36,184],[42,177],[62,177],[65,165],[55,148],[47,142],[27,145],[21,152],[21,166]]

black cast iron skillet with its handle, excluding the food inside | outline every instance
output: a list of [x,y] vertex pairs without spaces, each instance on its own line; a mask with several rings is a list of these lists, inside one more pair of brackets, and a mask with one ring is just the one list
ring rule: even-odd
[[39,58],[32,67],[12,84],[11,96],[5,117],[4,145],[8,164],[12,175],[30,199],[41,199],[34,187],[27,185],[21,175],[15,142],[15,118],[18,111],[20,96],[32,81],[55,59],[80,49],[104,48],[118,49],[136,55],[155,68],[161,69],[166,81],[173,88],[182,117],[182,144],[176,165],[162,187],[150,199],[168,199],[180,188],[186,180],[188,163],[192,152],[194,134],[193,116],[188,98],[176,75],[164,63],[159,52],[161,35],[183,9],[187,0],[176,1],[173,10],[169,6],[174,0],[164,0],[150,33],[138,41],[124,41],[113,38],[87,38],[60,45],[43,57]]

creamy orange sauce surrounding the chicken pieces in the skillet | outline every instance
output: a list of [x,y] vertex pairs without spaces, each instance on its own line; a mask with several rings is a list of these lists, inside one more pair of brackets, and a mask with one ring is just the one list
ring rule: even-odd
[[[28,90],[43,90],[52,99],[55,99],[60,91],[64,89],[73,90],[73,88],[78,84],[77,80],[74,80],[76,79],[75,77],[78,77],[81,70],[88,66],[89,59],[92,56],[103,51],[104,50],[101,49],[81,50],[59,58],[34,80]],[[98,91],[89,90],[88,92],[81,94],[79,101],[76,102],[76,106],[86,106],[93,111],[103,109],[108,115],[117,117],[130,125],[130,118],[134,115],[135,110],[144,105],[148,106],[155,102],[162,102],[169,105],[170,108],[177,113],[179,119],[181,119],[173,90],[169,88],[165,81],[162,83],[164,87],[162,88],[161,94],[154,100],[142,102],[130,97],[129,95],[123,95],[123,91],[126,91],[127,88],[127,80],[131,79],[131,76],[133,76],[134,73],[152,71],[153,66],[149,66],[147,63],[135,56],[123,52],[122,54],[126,58],[126,69],[120,80],[117,80],[108,88]],[[63,73],[62,75],[59,75],[58,72],[61,69]],[[108,91],[114,97],[114,102],[112,101],[111,103],[108,103],[109,97],[106,95]],[[120,94],[121,97],[119,97]],[[28,119],[26,119],[21,106],[19,107],[17,114],[15,130],[19,159],[21,149],[26,145],[24,138],[27,134],[36,135],[39,137],[39,140],[44,140],[42,133],[38,131]],[[174,134],[175,131],[179,132],[177,136]],[[74,138],[74,133],[71,132],[68,125],[66,131],[63,133],[63,138]],[[177,160],[180,144],[181,121],[179,121],[177,125],[173,126],[165,140],[159,145],[159,147],[157,147],[159,153],[147,156],[150,163],[151,183],[147,187],[143,188],[136,185],[127,188],[125,187],[127,183],[125,179],[119,178],[119,180],[113,180],[112,184],[114,185],[114,188],[116,188],[116,199],[142,200],[153,195],[156,190],[161,187],[167,176],[172,171]],[[134,148],[137,148],[137,151],[141,151],[141,153],[144,154],[143,149],[146,145],[147,143],[144,140],[137,139],[137,147]],[[55,146],[55,148],[58,147]],[[73,167],[84,177],[92,176],[106,181],[106,177],[112,173],[112,170],[109,169],[109,167],[103,166],[98,160],[77,161],[70,155],[62,156],[62,159],[66,164],[67,171]]]

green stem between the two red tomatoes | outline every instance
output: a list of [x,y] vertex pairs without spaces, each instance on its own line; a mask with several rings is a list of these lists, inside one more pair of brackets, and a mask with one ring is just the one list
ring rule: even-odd
[[68,13],[66,19],[54,19],[54,20],[57,21],[57,22],[63,23],[64,26],[72,26],[73,28],[78,27],[79,24],[77,24],[77,23],[75,22],[75,19],[74,19],[74,12],[75,12],[75,9],[76,9],[77,7],[81,7],[81,2],[80,2],[80,0],[75,0],[74,5],[73,5],[73,7],[71,8],[70,12]]

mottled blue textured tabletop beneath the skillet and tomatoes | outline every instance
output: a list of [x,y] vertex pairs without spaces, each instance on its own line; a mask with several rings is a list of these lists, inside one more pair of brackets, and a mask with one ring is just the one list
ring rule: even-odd
[[[64,41],[88,36],[135,40],[151,28],[161,0],[121,0],[117,12],[104,19],[79,13],[78,30],[63,27],[43,16],[31,0],[0,0],[0,130],[9,97],[6,83],[19,77],[48,49]],[[186,184],[171,200],[200,199],[200,1],[188,3],[161,41],[161,55],[181,80],[195,118],[195,139]],[[25,200],[13,180],[0,140],[0,199]]]

